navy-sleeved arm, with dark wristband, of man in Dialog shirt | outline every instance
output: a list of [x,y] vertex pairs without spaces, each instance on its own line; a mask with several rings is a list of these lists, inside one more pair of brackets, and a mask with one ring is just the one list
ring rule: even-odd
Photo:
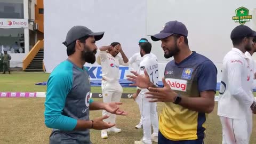
[[[146,98],[153,98],[150,102],[162,101],[162,102],[174,102],[178,93],[173,91],[171,87],[166,83],[165,79],[162,79],[163,88],[149,87],[149,92],[152,96]],[[198,75],[198,90],[200,97],[185,97],[180,95],[181,101],[179,105],[190,110],[199,111],[202,113],[211,113],[214,108],[214,95],[217,85],[217,69],[212,62],[204,62],[201,65],[201,72]]]

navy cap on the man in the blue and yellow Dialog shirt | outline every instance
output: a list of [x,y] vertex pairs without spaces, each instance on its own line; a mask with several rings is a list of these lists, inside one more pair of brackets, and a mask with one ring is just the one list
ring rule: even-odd
[[151,39],[153,41],[159,41],[160,39],[169,37],[173,34],[180,34],[187,37],[188,30],[182,22],[179,22],[177,20],[169,21],[165,23],[163,30],[161,30],[159,34],[151,36]]

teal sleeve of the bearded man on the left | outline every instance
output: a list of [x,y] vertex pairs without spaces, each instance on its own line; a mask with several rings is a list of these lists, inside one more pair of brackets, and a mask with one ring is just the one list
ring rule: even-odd
[[66,97],[72,86],[72,78],[66,73],[50,76],[45,99],[45,125],[49,128],[71,131],[77,120],[62,115]]

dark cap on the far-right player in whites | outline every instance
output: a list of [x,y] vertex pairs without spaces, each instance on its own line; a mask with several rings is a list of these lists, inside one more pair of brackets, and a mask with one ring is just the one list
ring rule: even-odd
[[251,28],[248,26],[244,25],[239,25],[235,27],[230,34],[231,39],[236,39],[236,38],[244,38],[244,37],[254,37],[256,36],[256,32],[253,31]]

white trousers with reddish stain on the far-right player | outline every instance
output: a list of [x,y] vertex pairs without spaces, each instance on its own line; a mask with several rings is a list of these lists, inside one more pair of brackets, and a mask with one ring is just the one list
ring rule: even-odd
[[249,144],[252,133],[252,113],[247,119],[233,119],[220,116],[222,144]]

